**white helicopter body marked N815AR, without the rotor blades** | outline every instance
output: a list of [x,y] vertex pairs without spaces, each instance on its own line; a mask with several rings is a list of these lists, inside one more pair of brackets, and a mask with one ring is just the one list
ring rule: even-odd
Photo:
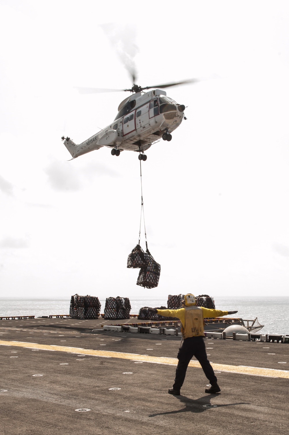
[[[116,119],[103,130],[81,144],[75,144],[69,137],[64,145],[73,158],[101,147],[120,151],[146,151],[160,137],[170,133],[181,124],[185,109],[166,97],[166,92],[156,89],[142,94],[138,92],[123,100],[118,107]],[[119,150],[119,151],[117,151]],[[112,154],[115,154],[112,151]]]

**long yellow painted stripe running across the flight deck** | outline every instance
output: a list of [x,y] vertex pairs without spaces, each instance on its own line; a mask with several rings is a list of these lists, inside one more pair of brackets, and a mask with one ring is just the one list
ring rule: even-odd
[[[47,351],[70,352],[83,355],[100,356],[104,358],[121,358],[133,361],[151,362],[155,364],[177,365],[177,358],[146,356],[133,353],[115,352],[115,351],[98,351],[93,349],[71,348],[68,346],[57,345],[39,345],[37,343],[23,341],[4,341],[0,340],[2,346],[17,346],[28,349],[41,349]],[[247,367],[242,365],[227,365],[211,363],[215,371],[226,371],[229,373],[238,373],[241,375],[267,376],[269,378],[287,378],[289,379],[288,370],[277,370],[273,368]],[[189,367],[201,368],[198,361],[190,361]]]

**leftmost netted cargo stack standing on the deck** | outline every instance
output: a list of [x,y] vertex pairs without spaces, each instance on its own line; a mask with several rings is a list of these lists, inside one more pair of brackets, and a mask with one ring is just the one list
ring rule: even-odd
[[100,316],[100,301],[95,296],[71,296],[70,317],[78,319],[98,319]]

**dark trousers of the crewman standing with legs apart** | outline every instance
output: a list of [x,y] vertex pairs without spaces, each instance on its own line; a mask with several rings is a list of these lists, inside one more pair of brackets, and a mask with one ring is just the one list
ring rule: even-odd
[[186,377],[186,369],[193,356],[199,361],[210,383],[212,384],[212,382],[217,381],[213,367],[210,365],[206,354],[206,346],[203,337],[189,337],[184,339],[183,346],[179,349],[179,362],[176,368],[175,383],[173,385],[174,390],[179,390],[182,387]]

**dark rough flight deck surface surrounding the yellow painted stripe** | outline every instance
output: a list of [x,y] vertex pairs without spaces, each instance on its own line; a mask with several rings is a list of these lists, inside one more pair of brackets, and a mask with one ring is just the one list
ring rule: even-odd
[[[174,365],[140,363],[137,355],[131,360],[41,349],[58,345],[176,358],[180,336],[90,333],[100,325],[121,322],[0,321],[0,344],[22,341],[38,347],[0,346],[0,389],[7,390],[0,392],[1,433],[289,434],[288,378],[221,371],[216,376],[222,392],[209,395],[204,392],[209,381],[202,369],[189,367],[181,395],[172,396],[167,390],[173,385]],[[289,370],[287,344],[208,338],[205,342],[213,363]],[[203,407],[207,404],[217,407]],[[76,412],[79,408],[90,411]]]

